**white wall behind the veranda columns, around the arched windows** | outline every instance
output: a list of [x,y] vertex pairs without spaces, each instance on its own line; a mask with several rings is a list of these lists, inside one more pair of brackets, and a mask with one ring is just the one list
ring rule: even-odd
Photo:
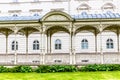
[[[33,41],[38,40],[40,43],[41,49],[41,35],[40,34],[31,34],[28,37],[28,53],[41,53],[41,50],[33,50]],[[107,39],[112,39],[114,43],[113,49],[106,48]],[[60,39],[62,43],[62,49],[55,50],[55,40]],[[81,48],[81,41],[83,39],[88,40],[88,49]],[[15,40],[15,35],[8,36],[8,53],[14,53],[11,50],[12,41]],[[26,53],[26,37],[24,35],[17,35],[16,40],[18,41],[18,50],[17,53]],[[45,49],[47,50],[47,38],[45,38]],[[76,53],[92,53],[95,52],[95,36],[93,33],[77,33],[75,36],[75,52]],[[100,52],[100,35],[97,36],[97,51]],[[51,37],[51,52],[52,53],[69,53],[70,51],[70,36],[68,33],[55,33]],[[102,50],[103,52],[117,52],[118,43],[117,35],[114,32],[103,32],[102,33]],[[0,53],[6,53],[6,38],[4,35],[0,35]]]

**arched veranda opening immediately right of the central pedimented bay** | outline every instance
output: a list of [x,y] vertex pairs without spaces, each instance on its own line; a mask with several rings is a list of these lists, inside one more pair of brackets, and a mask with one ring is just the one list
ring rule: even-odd
[[[91,25],[85,25],[80,28],[78,28],[75,31],[75,45],[76,45],[76,52],[77,53],[94,53],[97,52],[97,34],[99,33],[99,30]],[[86,48],[83,48],[82,46],[82,40],[87,40],[88,45],[86,45]]]

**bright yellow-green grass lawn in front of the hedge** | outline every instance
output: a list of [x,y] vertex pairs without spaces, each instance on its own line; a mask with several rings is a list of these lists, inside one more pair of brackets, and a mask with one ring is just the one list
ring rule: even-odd
[[120,71],[71,73],[0,73],[0,80],[120,80]]

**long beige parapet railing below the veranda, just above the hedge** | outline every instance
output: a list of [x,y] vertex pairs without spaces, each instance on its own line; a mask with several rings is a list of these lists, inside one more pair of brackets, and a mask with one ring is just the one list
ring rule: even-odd
[[[32,54],[17,54],[16,64],[14,54],[0,54],[0,65],[53,65],[53,64],[70,64],[69,53],[46,53],[45,55],[39,53]],[[44,58],[43,58],[44,57]],[[86,64],[120,64],[120,54],[117,52],[100,53],[76,53],[72,54],[72,65],[86,65]]]

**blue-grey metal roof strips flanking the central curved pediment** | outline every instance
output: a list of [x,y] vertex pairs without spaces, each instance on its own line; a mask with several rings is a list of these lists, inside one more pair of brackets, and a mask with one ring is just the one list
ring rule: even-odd
[[[120,18],[120,13],[112,13],[110,11],[106,13],[98,13],[98,14],[88,14],[86,12],[82,12],[81,14],[71,15],[73,19],[99,19],[99,18]],[[39,20],[42,16],[1,16],[0,21],[12,21],[12,20]]]

